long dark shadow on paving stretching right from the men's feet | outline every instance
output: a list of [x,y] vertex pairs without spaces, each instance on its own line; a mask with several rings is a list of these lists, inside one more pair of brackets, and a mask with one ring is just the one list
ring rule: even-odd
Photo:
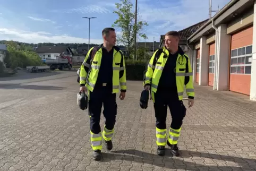
[[[256,168],[256,162],[253,159],[247,159],[247,158],[241,158],[241,157],[232,157],[232,156],[225,156],[225,155],[215,155],[210,153],[204,153],[204,152],[196,152],[196,151],[186,151],[181,150],[181,159],[170,158],[173,157],[170,153],[170,150],[166,150],[165,157],[160,157],[156,154],[148,153],[148,152],[142,152],[139,150],[118,150],[118,151],[112,151],[111,153],[103,153],[103,162],[109,162],[111,160],[124,160],[124,161],[134,161],[137,163],[143,163],[143,164],[149,164],[153,166],[158,167],[164,167],[169,169],[193,169],[193,170],[246,170],[246,169],[252,169],[255,170]],[[203,164],[196,164],[193,160],[191,162],[185,161],[184,158],[189,157],[202,157],[207,158],[205,163],[208,163],[209,165],[206,166],[200,160]],[[193,159],[193,158],[192,158]],[[218,164],[214,163],[211,159],[219,160],[220,163],[224,166],[218,166]],[[233,166],[225,166],[228,162],[234,162],[234,164],[230,164]],[[216,165],[216,166],[214,166]]]

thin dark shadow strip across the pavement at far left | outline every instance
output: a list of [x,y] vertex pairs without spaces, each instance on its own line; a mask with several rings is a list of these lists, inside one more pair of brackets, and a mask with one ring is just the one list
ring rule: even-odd
[[21,85],[21,84],[0,84],[0,89],[28,89],[28,90],[63,90],[64,87],[56,86],[38,86],[38,85]]

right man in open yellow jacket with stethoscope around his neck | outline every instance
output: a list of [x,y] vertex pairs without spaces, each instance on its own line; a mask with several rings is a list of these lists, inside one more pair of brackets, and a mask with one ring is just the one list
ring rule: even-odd
[[[194,104],[194,87],[189,57],[178,46],[180,36],[177,31],[165,35],[165,46],[158,49],[150,59],[143,82],[144,89],[151,91],[156,117],[157,154],[165,155],[165,146],[171,148],[174,156],[179,156],[177,142],[181,134],[186,108],[183,105],[183,91],[189,96],[189,107]],[[172,115],[169,136],[166,142],[167,106]]]

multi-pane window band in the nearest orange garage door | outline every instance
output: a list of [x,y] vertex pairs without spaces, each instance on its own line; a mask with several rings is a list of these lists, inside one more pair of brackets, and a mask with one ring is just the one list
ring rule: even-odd
[[251,74],[252,67],[252,45],[231,50],[232,74]]

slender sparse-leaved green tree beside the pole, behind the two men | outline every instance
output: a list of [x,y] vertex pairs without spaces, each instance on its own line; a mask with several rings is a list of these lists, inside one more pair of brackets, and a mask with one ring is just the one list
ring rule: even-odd
[[121,35],[117,35],[117,43],[122,43],[127,47],[128,57],[134,47],[134,38],[136,33],[139,37],[147,38],[145,33],[142,33],[144,27],[148,26],[147,22],[142,22],[137,19],[135,24],[135,13],[132,11],[133,4],[130,0],[120,0],[120,3],[115,3],[116,10],[113,13],[118,15],[118,19],[114,22],[112,27],[120,28]]

